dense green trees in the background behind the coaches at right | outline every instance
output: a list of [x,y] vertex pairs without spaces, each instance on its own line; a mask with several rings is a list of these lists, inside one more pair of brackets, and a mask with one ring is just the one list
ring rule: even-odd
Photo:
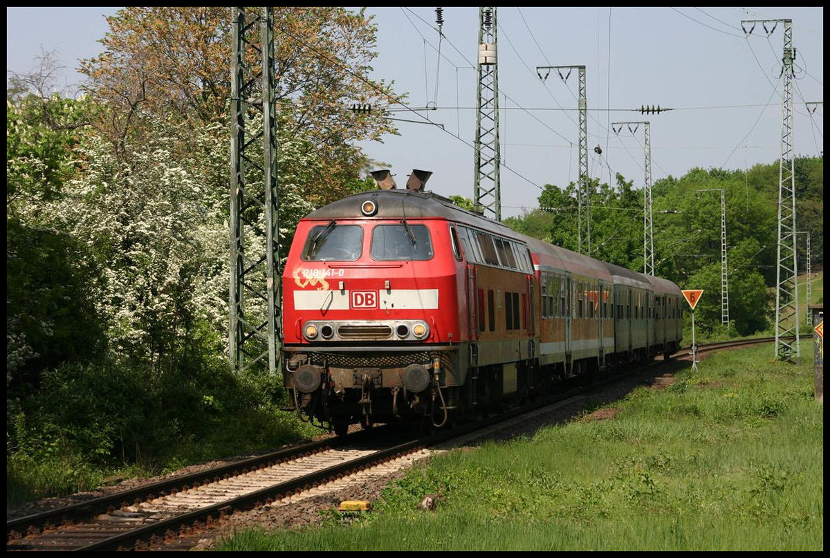
[[[798,228],[810,232],[813,266],[823,262],[823,159],[795,159]],[[622,175],[617,184],[593,180],[591,252],[604,262],[642,271],[642,190]],[[721,205],[725,192],[730,324],[721,325]],[[704,191],[706,190],[706,191]],[[749,171],[694,168],[679,179],[652,185],[655,275],[681,288],[702,289],[696,332],[707,339],[752,335],[769,328],[776,281],[779,165],[758,164]],[[540,208],[505,224],[546,242],[578,248],[577,185],[547,184]],[[584,213],[584,210],[583,210]],[[583,216],[584,218],[584,216]],[[804,235],[798,235],[799,268],[804,267]],[[583,245],[587,244],[583,239]],[[686,312],[686,339],[691,314]]]

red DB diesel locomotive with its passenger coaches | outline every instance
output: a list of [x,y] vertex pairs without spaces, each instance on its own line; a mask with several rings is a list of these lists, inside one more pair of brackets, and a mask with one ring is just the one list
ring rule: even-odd
[[376,190],[298,223],[281,350],[302,419],[434,431],[680,348],[674,282],[515,232],[427,191],[431,174],[374,171]]

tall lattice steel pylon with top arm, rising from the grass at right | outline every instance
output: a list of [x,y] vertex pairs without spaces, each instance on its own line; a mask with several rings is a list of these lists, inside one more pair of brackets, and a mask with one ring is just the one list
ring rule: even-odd
[[[771,35],[784,24],[784,56],[781,68],[781,158],[779,159],[779,204],[777,269],[775,272],[775,354],[783,360],[801,362],[798,341],[798,257],[795,242],[795,157],[793,151],[793,20],[743,20],[740,27],[749,35],[760,23]],[[772,29],[767,23],[774,23]],[[751,24],[749,31],[747,25]],[[789,338],[793,339],[790,340]],[[794,359],[793,359],[793,345]]]

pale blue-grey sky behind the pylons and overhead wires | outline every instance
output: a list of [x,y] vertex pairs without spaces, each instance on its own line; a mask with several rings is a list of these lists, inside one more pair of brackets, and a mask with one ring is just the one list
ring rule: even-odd
[[[7,7],[7,76],[56,51],[71,91],[78,60],[100,53],[105,16],[118,9]],[[371,76],[394,81],[408,107],[387,107],[400,135],[359,145],[400,187],[422,169],[433,173],[427,190],[472,199],[479,8],[443,7],[440,34],[435,7],[366,11],[378,26]],[[600,182],[619,173],[642,188],[646,125],[630,122],[648,123],[652,184],[696,167],[775,163],[784,23],[769,20],[784,19],[796,52],[794,152],[822,155],[823,7],[497,7],[501,217],[538,207],[545,184],[579,178],[579,71],[562,79],[538,66],[585,66],[588,174]]]

